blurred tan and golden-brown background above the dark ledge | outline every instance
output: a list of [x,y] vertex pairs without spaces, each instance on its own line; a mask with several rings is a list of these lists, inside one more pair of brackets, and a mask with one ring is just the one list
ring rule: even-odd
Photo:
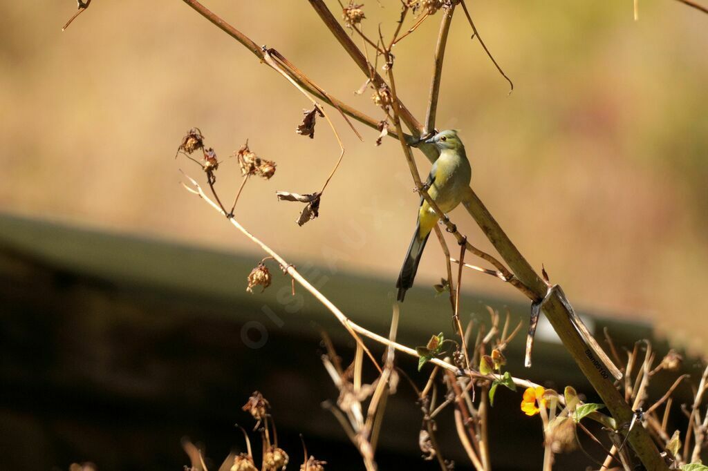
[[[365,30],[384,21],[390,34],[398,2],[380,3],[367,2]],[[360,143],[336,117],[347,154],[320,219],[298,228],[299,207],[273,193],[316,190],[338,154],[324,121],[314,141],[295,134],[308,106],[302,95],[179,1],[97,1],[62,33],[74,6],[0,6],[1,210],[260,257],[178,185],[178,168],[199,173],[173,160],[196,125],[222,159],[249,139],[277,161],[273,180],[246,187],[239,218],[248,228],[301,260],[329,260],[328,241],[341,267],[389,277],[393,287],[418,201],[394,140],[377,148],[376,133],[359,125]],[[369,92],[353,95],[362,75],[306,2],[209,6],[329,93],[380,117]],[[438,126],[461,130],[474,188],[572,301],[654,320],[697,347],[708,332],[708,18],[674,1],[639,7],[634,22],[631,2],[474,5],[516,88],[507,96],[460,14]],[[437,29],[438,19],[428,19],[396,50],[401,98],[419,117]],[[225,168],[227,194],[237,179]],[[464,211],[453,216],[488,247]],[[443,273],[432,247],[421,286]],[[468,274],[466,283],[515,296],[486,277]]]

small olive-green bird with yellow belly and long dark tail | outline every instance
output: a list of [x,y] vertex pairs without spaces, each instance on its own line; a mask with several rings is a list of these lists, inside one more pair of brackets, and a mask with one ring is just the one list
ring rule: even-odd
[[[464,153],[462,141],[457,136],[457,131],[447,130],[435,134],[427,141],[440,150],[438,160],[433,163],[426,185],[428,194],[438,204],[440,210],[447,214],[457,207],[462,201],[462,195],[469,187],[472,178],[472,168],[469,166],[467,155]],[[413,233],[411,246],[408,248],[406,260],[401,267],[401,274],[396,281],[398,288],[398,301],[403,302],[406,290],[413,286],[413,279],[418,271],[418,263],[423,255],[423,248],[440,216],[435,213],[430,204],[421,197],[421,209],[418,210],[418,225]]]

